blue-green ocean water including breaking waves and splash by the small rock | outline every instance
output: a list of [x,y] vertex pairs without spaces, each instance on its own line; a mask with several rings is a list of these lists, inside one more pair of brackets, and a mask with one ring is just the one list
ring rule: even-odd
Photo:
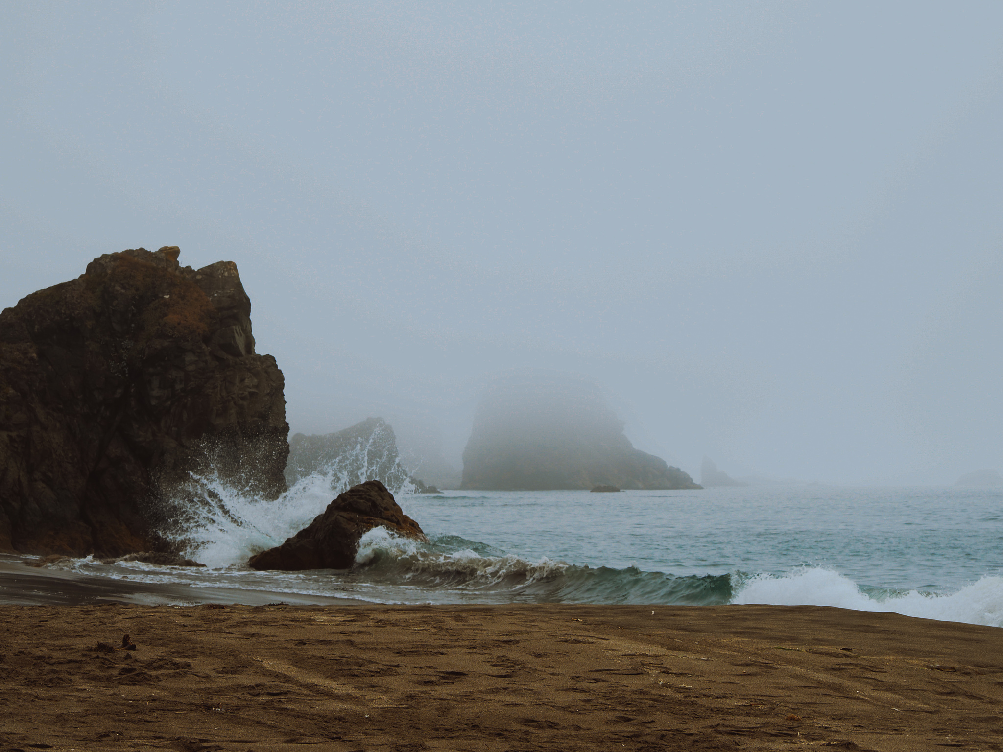
[[999,489],[401,488],[397,500],[428,543],[378,528],[349,571],[259,573],[247,569],[248,556],[323,511],[337,478],[315,474],[277,501],[242,497],[212,478],[204,485],[205,503],[180,516],[171,534],[206,569],[88,557],[50,570],[143,584],[145,600],[161,603],[198,602],[203,592],[207,601],[224,593],[241,603],[242,593],[264,592],[297,603],[811,604],[1003,626]]

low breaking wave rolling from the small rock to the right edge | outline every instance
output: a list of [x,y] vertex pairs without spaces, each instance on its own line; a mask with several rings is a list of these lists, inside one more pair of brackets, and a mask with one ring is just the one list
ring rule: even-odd
[[[460,547],[465,544],[465,547]],[[482,546],[479,550],[477,546]],[[367,579],[422,589],[491,593],[514,601],[714,606],[833,606],[938,621],[1003,627],[1003,577],[986,576],[952,594],[859,586],[837,572],[804,567],[786,575],[675,577],[636,567],[589,568],[505,555],[454,536],[422,544],[383,528],[360,541],[356,566]]]

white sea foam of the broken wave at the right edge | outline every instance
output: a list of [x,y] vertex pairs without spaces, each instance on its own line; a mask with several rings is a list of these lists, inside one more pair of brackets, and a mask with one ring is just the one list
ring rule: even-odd
[[741,586],[733,604],[837,606],[893,612],[944,622],[1003,627],[1003,578],[986,576],[949,595],[918,591],[872,598],[848,577],[822,568],[803,568],[781,577],[756,575]]

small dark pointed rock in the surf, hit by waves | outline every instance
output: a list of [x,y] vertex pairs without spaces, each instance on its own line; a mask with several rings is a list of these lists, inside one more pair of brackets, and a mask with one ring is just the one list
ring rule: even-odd
[[322,514],[282,545],[252,556],[255,570],[347,570],[355,561],[359,538],[373,527],[424,540],[418,523],[401,511],[393,494],[368,480],[339,495]]

